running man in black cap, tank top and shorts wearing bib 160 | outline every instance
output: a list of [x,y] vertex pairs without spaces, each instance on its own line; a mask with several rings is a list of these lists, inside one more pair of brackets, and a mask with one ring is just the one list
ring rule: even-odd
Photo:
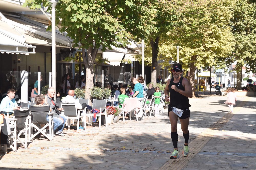
[[[189,139],[189,117],[191,106],[188,103],[188,98],[192,97],[192,87],[188,79],[182,77],[182,65],[179,63],[173,64],[173,78],[167,80],[166,87],[164,89],[165,101],[170,101],[168,107],[168,116],[171,123],[171,138],[173,141],[174,151],[170,156],[170,159],[177,159],[179,157],[178,152],[178,133],[177,123],[178,118],[180,120],[181,129],[183,131],[183,137],[185,139],[183,156],[188,156],[188,139]],[[169,96],[170,94],[170,96]]]

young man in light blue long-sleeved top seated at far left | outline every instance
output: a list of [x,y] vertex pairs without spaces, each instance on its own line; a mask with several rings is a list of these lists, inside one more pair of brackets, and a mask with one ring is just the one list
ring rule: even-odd
[[3,111],[5,115],[9,113],[9,116],[12,116],[14,110],[19,110],[18,104],[15,101],[15,90],[9,89],[7,91],[7,96],[3,98],[0,104],[0,111]]

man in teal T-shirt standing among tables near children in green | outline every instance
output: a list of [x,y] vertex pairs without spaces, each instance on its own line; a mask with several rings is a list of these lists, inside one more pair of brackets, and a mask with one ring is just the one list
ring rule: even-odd
[[137,113],[137,116],[138,116],[138,120],[141,120],[142,116],[143,116],[143,111],[142,111],[142,104],[143,104],[143,87],[142,87],[142,84],[140,82],[137,81],[136,77],[133,77],[132,78],[132,83],[134,84],[134,88],[133,88],[133,91],[134,91],[134,94],[133,94],[133,98],[138,98],[137,100],[137,109],[138,109],[138,113]]

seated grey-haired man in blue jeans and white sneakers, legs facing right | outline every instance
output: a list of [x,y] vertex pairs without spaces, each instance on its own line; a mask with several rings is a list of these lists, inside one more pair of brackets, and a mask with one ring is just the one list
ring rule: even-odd
[[53,114],[54,130],[57,130],[57,132],[55,134],[59,135],[59,136],[65,136],[63,134],[63,128],[64,128],[65,122],[67,120],[67,116],[60,114],[61,111],[63,110],[63,108],[57,107],[56,103],[54,102],[54,95],[55,95],[55,89],[53,87],[50,87],[48,89],[48,94],[45,96],[45,99],[46,99],[45,102],[50,106],[50,108],[52,108],[52,110],[54,112],[54,114]]

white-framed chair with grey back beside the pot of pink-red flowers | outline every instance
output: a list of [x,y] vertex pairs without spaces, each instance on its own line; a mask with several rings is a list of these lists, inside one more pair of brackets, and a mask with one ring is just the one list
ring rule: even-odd
[[[96,116],[99,116],[99,128],[101,125],[101,116],[105,115],[105,125],[106,127],[108,127],[108,123],[107,123],[107,111],[106,111],[106,104],[107,104],[107,100],[96,100],[93,99],[92,102],[92,108],[93,109],[98,109],[100,111],[100,113],[96,113]],[[94,116],[94,113],[86,113],[87,116],[89,116],[89,123],[92,125],[92,119],[91,116]]]

